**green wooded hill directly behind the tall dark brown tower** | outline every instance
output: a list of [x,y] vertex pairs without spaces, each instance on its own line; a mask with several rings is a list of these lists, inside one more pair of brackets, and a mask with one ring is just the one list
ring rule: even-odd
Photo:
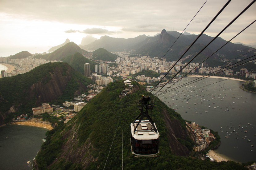
[[74,53],[73,55],[64,57],[61,59],[62,62],[68,63],[71,67],[73,67],[76,71],[85,74],[85,63],[90,64],[91,73],[95,72],[96,62],[85,58],[81,53]]

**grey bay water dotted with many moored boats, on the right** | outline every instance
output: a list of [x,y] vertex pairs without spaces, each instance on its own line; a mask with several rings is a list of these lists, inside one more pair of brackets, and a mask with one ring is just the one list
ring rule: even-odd
[[[177,87],[197,78],[186,77],[167,87]],[[177,109],[176,112],[183,119],[218,131],[221,145],[216,152],[238,162],[256,160],[256,94],[241,90],[239,86],[243,81],[221,80],[224,79],[209,77],[173,89],[160,95],[159,99],[171,105],[169,107],[172,109]],[[161,91],[165,89],[167,88],[164,87]],[[245,130],[248,132],[244,132]]]

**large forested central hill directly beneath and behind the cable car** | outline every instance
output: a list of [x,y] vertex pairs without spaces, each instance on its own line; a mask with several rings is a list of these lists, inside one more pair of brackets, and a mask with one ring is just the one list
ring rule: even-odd
[[217,163],[189,157],[192,143],[184,120],[157,98],[152,119],[160,134],[160,153],[155,158],[134,157],[130,123],[139,114],[138,99],[147,91],[136,82],[132,85],[132,93],[120,99],[118,96],[126,87],[124,82],[109,83],[71,121],[48,131],[35,158],[35,168],[120,170],[123,141],[123,165],[127,170],[243,169],[232,161]]

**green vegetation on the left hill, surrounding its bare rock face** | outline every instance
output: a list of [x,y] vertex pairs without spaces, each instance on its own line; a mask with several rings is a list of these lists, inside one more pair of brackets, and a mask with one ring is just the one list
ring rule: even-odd
[[[1,112],[8,111],[14,105],[15,108],[19,109],[19,113],[25,112],[32,115],[31,108],[38,106],[37,97],[40,94],[33,93],[31,87],[36,83],[41,83],[42,87],[44,87],[44,85],[52,80],[51,75],[57,69],[61,70],[63,76],[67,75],[68,71],[70,71],[71,80],[68,81],[62,95],[57,100],[44,102],[59,104],[64,101],[72,101],[75,92],[85,92],[86,85],[92,83],[92,80],[74,71],[68,64],[62,62],[43,64],[27,73],[0,79],[0,94],[4,99],[0,103]],[[47,93],[47,91],[43,93]]]

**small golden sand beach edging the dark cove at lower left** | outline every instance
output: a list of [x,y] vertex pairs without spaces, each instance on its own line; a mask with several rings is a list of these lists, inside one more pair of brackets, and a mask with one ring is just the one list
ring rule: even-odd
[[27,126],[36,126],[40,128],[47,128],[48,130],[52,130],[53,127],[50,122],[40,121],[39,119],[32,118],[28,121],[15,121],[13,124],[17,125],[27,125]]

